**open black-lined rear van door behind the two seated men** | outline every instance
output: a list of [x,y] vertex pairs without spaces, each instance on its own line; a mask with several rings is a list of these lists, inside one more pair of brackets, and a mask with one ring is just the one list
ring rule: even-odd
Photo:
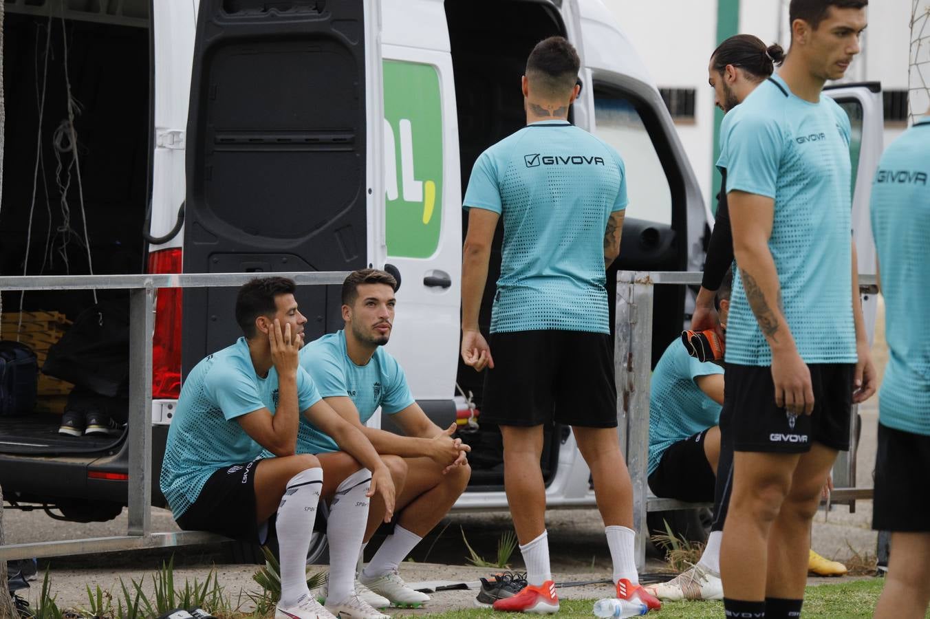
[[[380,84],[378,11],[366,0],[201,0],[184,272],[369,264],[379,155],[370,137],[383,123],[372,96]],[[185,372],[241,335],[234,298],[229,288],[184,292]],[[297,300],[307,341],[342,327],[339,286],[304,286]]]

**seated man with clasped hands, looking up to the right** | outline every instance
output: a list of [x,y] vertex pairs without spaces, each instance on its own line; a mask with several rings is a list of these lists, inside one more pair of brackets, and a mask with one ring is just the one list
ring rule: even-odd
[[[383,270],[350,273],[342,284],[345,328],[302,349],[300,366],[312,377],[324,401],[365,433],[394,475],[397,518],[393,533],[359,575],[356,590],[373,606],[418,607],[430,598],[407,586],[398,566],[465,490],[471,476],[466,454],[471,448],[452,438],[455,424],[439,428],[423,413],[407,388],[403,368],[383,348],[391,337],[396,288],[397,281]],[[405,436],[365,427],[379,407]],[[326,428],[314,428],[306,418],[301,420],[299,454],[317,454],[322,460],[337,449]],[[384,518],[384,505],[375,500],[365,542]]]

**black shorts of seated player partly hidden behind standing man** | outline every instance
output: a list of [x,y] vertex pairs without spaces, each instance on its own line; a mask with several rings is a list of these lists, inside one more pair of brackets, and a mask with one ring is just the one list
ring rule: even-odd
[[708,430],[710,428],[674,442],[665,450],[658,467],[647,480],[653,494],[691,503],[713,500],[716,478],[704,454],[704,438]]

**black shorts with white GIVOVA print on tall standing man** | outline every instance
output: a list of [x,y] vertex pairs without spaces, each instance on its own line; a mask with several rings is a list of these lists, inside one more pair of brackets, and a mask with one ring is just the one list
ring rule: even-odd
[[725,417],[733,428],[737,452],[803,454],[817,441],[830,449],[849,449],[853,405],[853,363],[810,363],[814,412],[790,415],[775,404],[772,368],[727,363]]

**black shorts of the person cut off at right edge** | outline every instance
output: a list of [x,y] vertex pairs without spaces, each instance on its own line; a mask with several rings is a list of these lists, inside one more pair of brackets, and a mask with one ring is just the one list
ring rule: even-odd
[[930,436],[879,423],[872,529],[930,533],[927,471],[930,471]]

